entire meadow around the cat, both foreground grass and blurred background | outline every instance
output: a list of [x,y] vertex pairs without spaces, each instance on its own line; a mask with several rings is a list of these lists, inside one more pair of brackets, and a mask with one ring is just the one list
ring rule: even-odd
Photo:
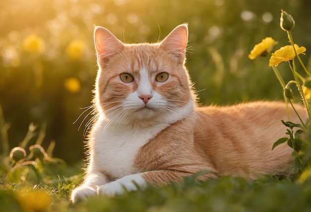
[[[78,117],[90,105],[96,76],[94,25],[107,27],[123,42],[137,43],[157,42],[187,22],[186,64],[202,105],[285,97],[309,108],[309,1],[0,0],[0,4],[0,212],[311,211],[309,123],[298,131],[285,123],[288,138],[279,140],[293,148],[290,177],[197,181],[198,173],[180,183],[149,185],[115,198],[90,198],[76,205],[69,200],[83,176],[83,130],[91,116],[86,111]],[[275,63],[269,67],[269,55],[250,60],[252,48],[266,37],[276,42],[265,53],[290,45],[288,32],[280,28],[281,9],[293,15],[291,35],[306,51],[301,49],[277,67]]]

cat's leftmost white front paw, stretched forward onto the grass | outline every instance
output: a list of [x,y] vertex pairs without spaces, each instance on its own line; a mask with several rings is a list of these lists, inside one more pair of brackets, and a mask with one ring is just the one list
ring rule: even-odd
[[97,187],[99,185],[106,184],[107,178],[102,173],[91,173],[88,174],[84,182],[75,188],[71,194],[71,201],[76,203],[80,200],[84,200],[91,196],[96,196]]

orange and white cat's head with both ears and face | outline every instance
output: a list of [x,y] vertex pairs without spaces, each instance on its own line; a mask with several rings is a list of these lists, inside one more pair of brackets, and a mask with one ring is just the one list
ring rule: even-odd
[[[110,121],[176,121],[193,111],[195,96],[184,66],[187,25],[162,42],[123,44],[96,27],[98,74],[94,103]],[[170,120],[172,119],[172,120]]]

